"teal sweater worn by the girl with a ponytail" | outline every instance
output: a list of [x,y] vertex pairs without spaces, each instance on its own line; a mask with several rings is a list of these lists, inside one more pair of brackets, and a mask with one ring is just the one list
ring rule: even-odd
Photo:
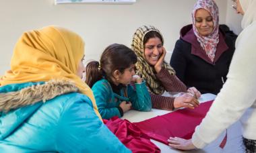
[[110,83],[106,79],[97,81],[93,85],[92,91],[96,99],[98,111],[104,119],[110,119],[113,116],[121,117],[121,113],[117,107],[119,107],[122,101],[130,101],[133,109],[138,111],[150,111],[152,108],[150,93],[148,93],[145,81],[135,83],[135,88],[128,85],[128,97],[124,96],[125,89],[121,89],[121,95],[114,93]]

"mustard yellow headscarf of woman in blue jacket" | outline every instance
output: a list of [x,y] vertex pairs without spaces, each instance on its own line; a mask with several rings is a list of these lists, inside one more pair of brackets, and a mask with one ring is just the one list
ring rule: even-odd
[[83,56],[82,38],[65,28],[48,26],[25,32],[15,45],[11,70],[1,77],[0,86],[52,79],[73,81],[79,92],[91,99],[94,111],[100,117],[92,90],[77,76]]

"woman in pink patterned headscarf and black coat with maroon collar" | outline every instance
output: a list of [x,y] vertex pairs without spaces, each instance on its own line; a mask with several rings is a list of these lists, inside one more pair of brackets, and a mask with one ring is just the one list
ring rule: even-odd
[[170,65],[187,87],[218,94],[226,81],[236,36],[219,28],[218,6],[213,0],[197,1],[192,19],[193,24],[181,29]]

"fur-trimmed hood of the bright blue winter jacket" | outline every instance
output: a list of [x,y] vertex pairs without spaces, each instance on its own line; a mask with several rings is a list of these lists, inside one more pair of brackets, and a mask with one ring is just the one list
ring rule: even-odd
[[0,140],[20,127],[46,101],[77,91],[75,84],[55,80],[0,87]]

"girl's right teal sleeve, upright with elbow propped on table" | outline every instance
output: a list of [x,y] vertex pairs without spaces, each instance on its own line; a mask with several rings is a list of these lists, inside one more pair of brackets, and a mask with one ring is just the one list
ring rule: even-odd
[[135,83],[134,87],[128,85],[127,93],[132,102],[133,109],[137,109],[138,111],[150,111],[152,109],[150,93],[146,87],[146,81]]

